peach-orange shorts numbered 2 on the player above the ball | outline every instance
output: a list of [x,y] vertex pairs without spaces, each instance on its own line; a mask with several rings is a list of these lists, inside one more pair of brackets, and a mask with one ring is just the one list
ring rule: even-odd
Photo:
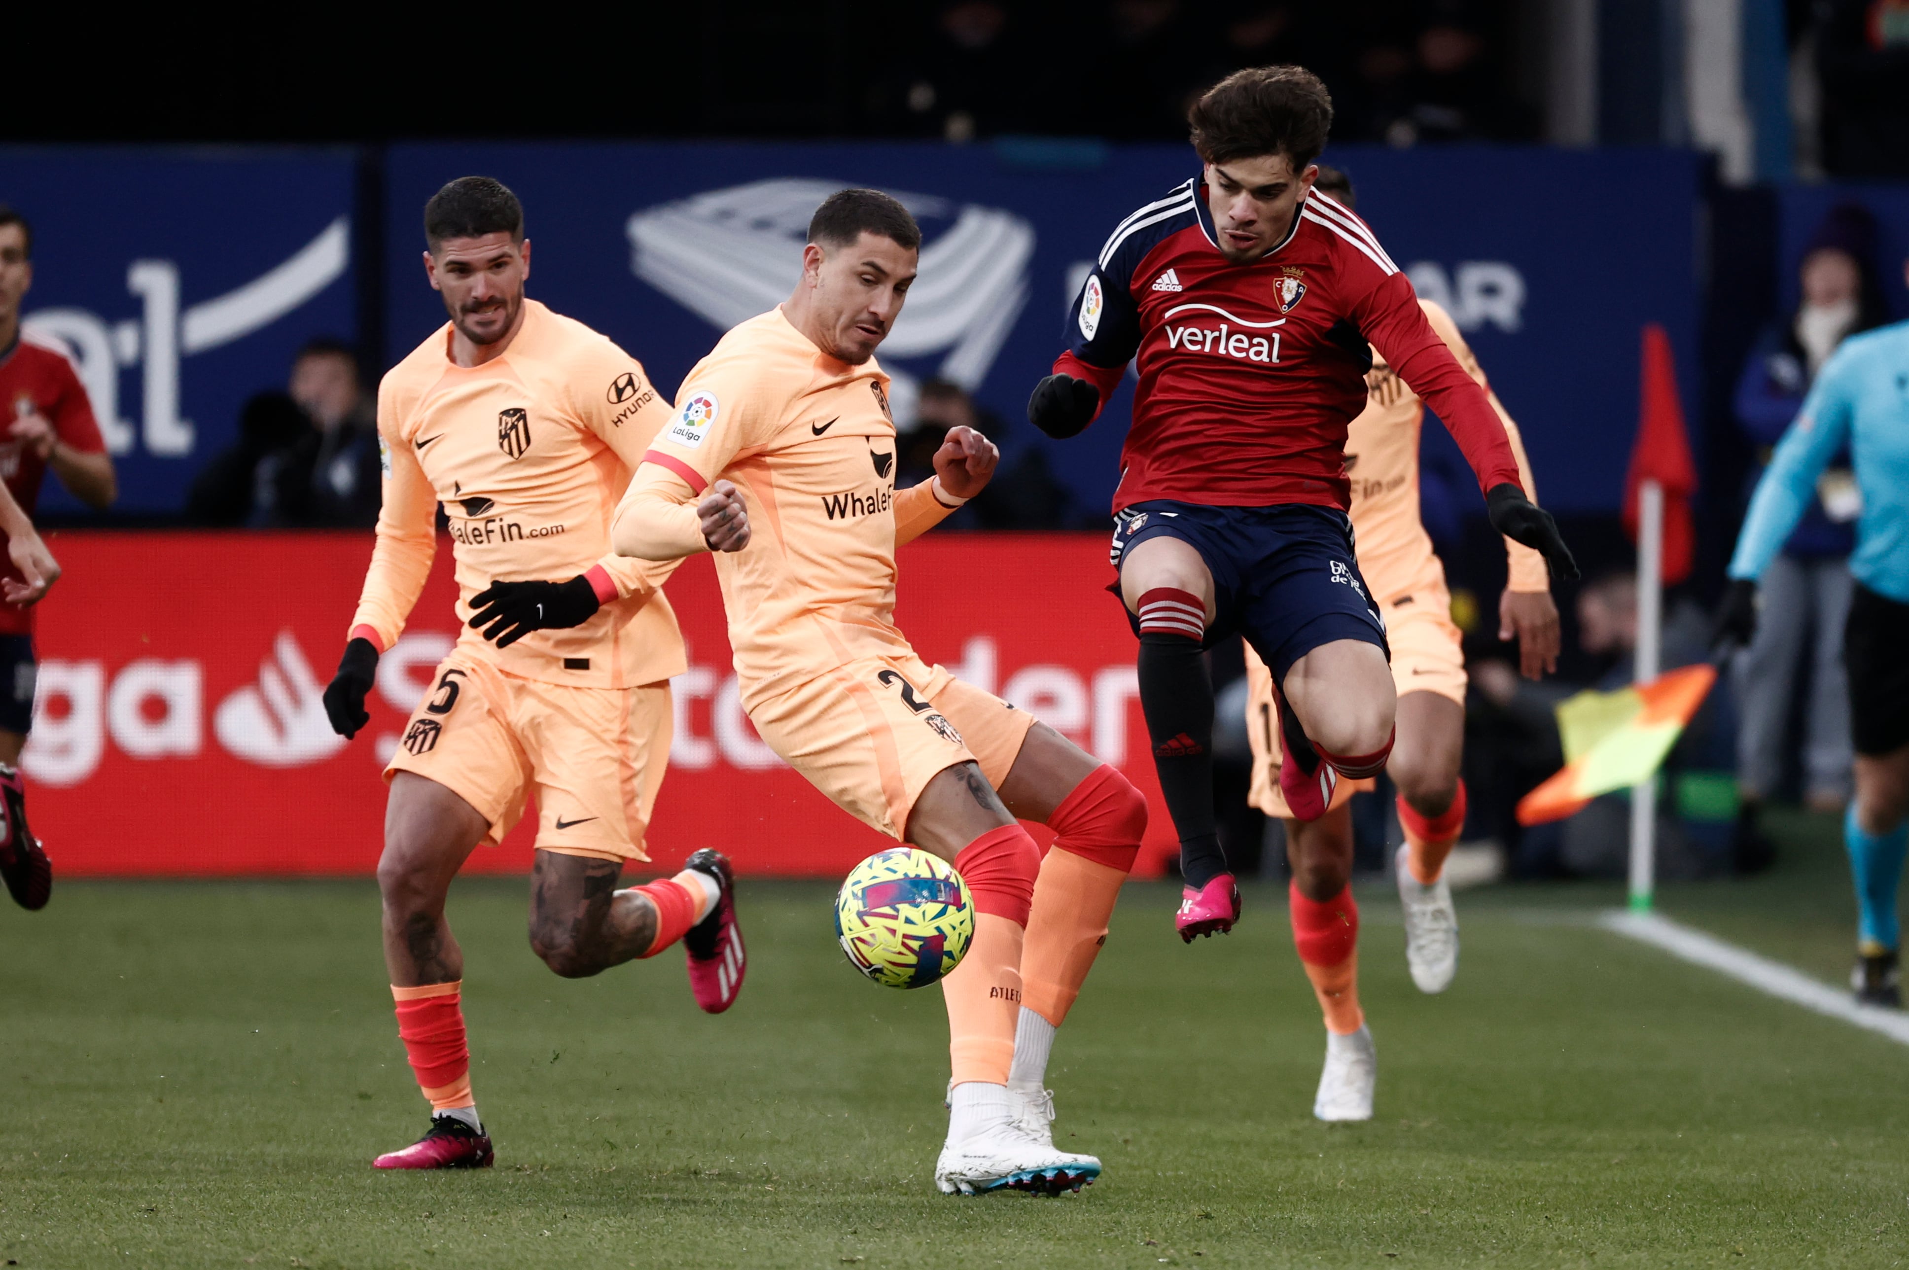
[[918,657],[857,657],[756,703],[756,731],[815,789],[901,838],[928,781],[975,762],[1000,785],[1035,716]]

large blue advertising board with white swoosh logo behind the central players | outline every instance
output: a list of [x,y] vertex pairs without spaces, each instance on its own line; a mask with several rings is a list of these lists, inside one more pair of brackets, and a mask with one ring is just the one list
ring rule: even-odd
[[[1695,392],[1701,159],[1676,151],[1340,147],[1359,212],[1420,294],[1466,330],[1521,422],[1544,500],[1605,512],[1638,420],[1638,348],[1663,323]],[[1061,351],[1067,306],[1107,233],[1197,172],[1185,147],[1075,143],[407,145],[388,155],[388,359],[445,321],[424,281],[422,210],[447,180],[494,176],[527,208],[531,292],[603,330],[674,392],[733,323],[783,300],[815,204],[844,185],[901,197],[922,275],[880,351],[897,420],[928,376],[1006,420],[1010,453],[1046,445],[1082,506],[1119,477],[1126,392],[1082,437],[1025,424]],[[1695,397],[1686,405],[1695,418]],[[1436,428],[1428,445],[1437,447]],[[1443,441],[1449,447],[1449,441]]]

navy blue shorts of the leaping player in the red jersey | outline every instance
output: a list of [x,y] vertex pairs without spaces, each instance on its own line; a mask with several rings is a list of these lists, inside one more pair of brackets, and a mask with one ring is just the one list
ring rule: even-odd
[[[1275,684],[1294,661],[1334,640],[1376,644],[1390,661],[1386,624],[1352,550],[1352,521],[1338,508],[1136,502],[1115,514],[1113,567],[1159,535],[1191,546],[1212,573],[1216,613],[1203,647],[1245,636]],[[1126,621],[1140,634],[1140,619],[1128,613]]]

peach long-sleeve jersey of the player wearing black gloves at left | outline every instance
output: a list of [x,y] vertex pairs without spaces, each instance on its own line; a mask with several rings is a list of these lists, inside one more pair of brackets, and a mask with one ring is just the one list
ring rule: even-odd
[[[378,386],[384,506],[351,634],[380,649],[405,630],[451,519],[458,644],[506,674],[580,688],[636,688],[685,668],[661,588],[674,563],[611,552],[609,523],[670,420],[643,367],[578,321],[525,300],[523,325],[481,367],[451,361],[447,323]],[[498,649],[472,630],[470,602],[494,581],[588,575],[590,621]]]

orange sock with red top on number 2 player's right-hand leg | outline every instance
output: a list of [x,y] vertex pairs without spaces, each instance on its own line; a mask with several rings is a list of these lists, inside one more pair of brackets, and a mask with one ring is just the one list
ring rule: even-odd
[[1058,1027],[1107,942],[1107,919],[1147,831],[1147,800],[1117,768],[1101,766],[1048,825],[1059,836],[1035,878],[1021,978],[1023,1005]]

